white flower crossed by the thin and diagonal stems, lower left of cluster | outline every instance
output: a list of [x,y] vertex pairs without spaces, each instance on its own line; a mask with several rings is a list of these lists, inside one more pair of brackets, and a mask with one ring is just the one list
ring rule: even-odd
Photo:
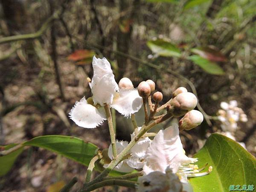
[[[117,154],[121,153],[121,151],[128,145],[127,141],[118,141],[116,140],[116,151]],[[108,148],[108,157],[113,160],[113,151],[112,151],[112,145],[109,145]],[[114,170],[118,171],[118,172],[124,172],[124,173],[128,173],[134,170],[134,168],[128,166],[128,164],[126,163],[127,160],[123,160],[121,161],[115,168]],[[105,164],[104,167],[106,168],[108,166],[108,164]]]

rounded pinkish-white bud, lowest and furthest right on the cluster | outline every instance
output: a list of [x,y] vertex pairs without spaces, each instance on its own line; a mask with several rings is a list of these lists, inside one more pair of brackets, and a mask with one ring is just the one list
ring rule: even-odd
[[192,110],[186,113],[179,122],[180,130],[190,130],[200,125],[204,120],[204,116],[200,111]]

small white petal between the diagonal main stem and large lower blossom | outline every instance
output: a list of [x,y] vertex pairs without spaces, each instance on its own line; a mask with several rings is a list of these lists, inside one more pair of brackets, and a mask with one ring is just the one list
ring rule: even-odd
[[[141,127],[138,127],[139,131],[140,129]],[[134,138],[134,135],[134,133],[131,134],[131,140]],[[131,148],[131,157],[128,158],[127,164],[135,169],[143,168],[146,150],[151,142],[151,139],[148,137],[138,140],[138,142]]]

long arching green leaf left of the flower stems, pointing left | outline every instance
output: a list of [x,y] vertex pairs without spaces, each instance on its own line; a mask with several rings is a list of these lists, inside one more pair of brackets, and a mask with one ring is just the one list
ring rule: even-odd
[[77,137],[69,137],[62,135],[47,135],[35,137],[26,141],[23,145],[35,146],[54,151],[58,154],[73,159],[86,166],[95,156],[99,149],[92,143],[86,143]]

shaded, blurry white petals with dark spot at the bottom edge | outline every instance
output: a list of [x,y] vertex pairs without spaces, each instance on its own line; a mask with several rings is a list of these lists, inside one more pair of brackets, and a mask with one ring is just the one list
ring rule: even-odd
[[167,168],[166,172],[151,172],[138,178],[137,192],[181,192],[183,185],[177,175]]

